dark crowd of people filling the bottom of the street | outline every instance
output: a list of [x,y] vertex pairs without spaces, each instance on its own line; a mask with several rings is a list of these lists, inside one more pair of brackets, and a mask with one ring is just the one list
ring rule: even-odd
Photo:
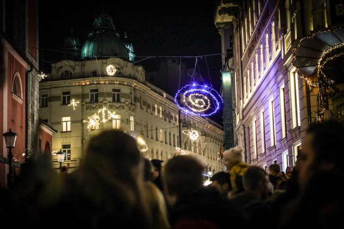
[[228,171],[204,187],[205,167],[192,155],[162,168],[130,135],[104,131],[73,172],[57,173],[46,158],[23,164],[11,190],[0,190],[0,220],[35,228],[335,227],[344,213],[343,133],[337,122],[309,127],[285,171],[246,164],[240,147],[226,150]]

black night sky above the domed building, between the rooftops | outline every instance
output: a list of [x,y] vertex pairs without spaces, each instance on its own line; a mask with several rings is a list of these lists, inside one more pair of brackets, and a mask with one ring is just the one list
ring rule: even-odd
[[[143,56],[201,56],[221,53],[221,40],[213,24],[216,0],[204,1],[39,1],[40,69],[49,71],[49,61],[58,60],[69,30],[80,39],[81,46],[93,28],[95,15],[105,11],[112,17],[121,38],[124,31],[133,43],[135,61]],[[151,59],[140,62],[145,63]],[[221,56],[207,57],[211,82],[220,90]],[[195,58],[182,61],[195,63]],[[204,58],[200,73],[209,78]],[[208,80],[209,81],[209,80]],[[222,112],[222,111],[221,111]],[[220,116],[221,117],[221,116]],[[219,117],[213,117],[219,121]]]

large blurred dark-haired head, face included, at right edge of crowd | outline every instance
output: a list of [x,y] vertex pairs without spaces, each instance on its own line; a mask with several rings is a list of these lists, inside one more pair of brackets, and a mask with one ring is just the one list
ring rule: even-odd
[[300,184],[306,184],[310,172],[337,171],[344,173],[344,126],[339,122],[317,123],[308,128],[303,142],[303,164],[299,168]]

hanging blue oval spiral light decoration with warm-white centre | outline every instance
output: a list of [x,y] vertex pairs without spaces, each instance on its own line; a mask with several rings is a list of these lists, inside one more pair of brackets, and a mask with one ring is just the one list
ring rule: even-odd
[[194,83],[187,84],[177,91],[175,103],[187,114],[207,117],[218,112],[223,100],[212,87]]

